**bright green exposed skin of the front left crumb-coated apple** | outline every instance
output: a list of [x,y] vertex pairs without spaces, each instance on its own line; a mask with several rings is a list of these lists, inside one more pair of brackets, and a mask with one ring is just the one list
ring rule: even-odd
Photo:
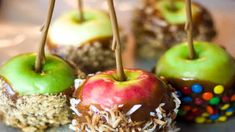
[[74,83],[75,71],[59,57],[46,55],[42,72],[34,70],[36,55],[27,53],[8,60],[0,68],[2,76],[19,95],[57,94]]

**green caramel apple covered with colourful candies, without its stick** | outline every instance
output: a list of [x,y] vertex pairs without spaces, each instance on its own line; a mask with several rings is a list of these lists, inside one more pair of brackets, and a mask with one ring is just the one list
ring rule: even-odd
[[168,50],[156,73],[164,76],[182,101],[178,117],[196,123],[224,122],[235,112],[235,61],[216,44],[194,42],[189,60],[186,43]]

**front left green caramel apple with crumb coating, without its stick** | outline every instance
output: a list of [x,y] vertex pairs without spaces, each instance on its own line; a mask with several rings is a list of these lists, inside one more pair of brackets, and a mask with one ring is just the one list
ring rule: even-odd
[[33,53],[19,55],[0,68],[1,120],[25,132],[68,124],[72,114],[73,68],[47,55],[42,72],[36,73],[35,58]]

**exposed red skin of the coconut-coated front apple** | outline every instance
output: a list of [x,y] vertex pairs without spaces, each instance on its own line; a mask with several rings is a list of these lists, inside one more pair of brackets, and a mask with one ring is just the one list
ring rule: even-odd
[[115,70],[88,78],[77,94],[81,105],[98,105],[101,108],[136,104],[158,106],[165,94],[160,80],[153,74],[138,69],[125,69],[125,74],[127,80],[123,82],[116,80]]

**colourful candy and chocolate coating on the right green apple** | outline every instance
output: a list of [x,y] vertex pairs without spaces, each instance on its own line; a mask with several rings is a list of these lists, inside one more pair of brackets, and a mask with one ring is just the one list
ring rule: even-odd
[[224,86],[204,88],[199,83],[177,91],[182,100],[179,118],[196,123],[224,122],[235,111],[235,94],[225,91]]

